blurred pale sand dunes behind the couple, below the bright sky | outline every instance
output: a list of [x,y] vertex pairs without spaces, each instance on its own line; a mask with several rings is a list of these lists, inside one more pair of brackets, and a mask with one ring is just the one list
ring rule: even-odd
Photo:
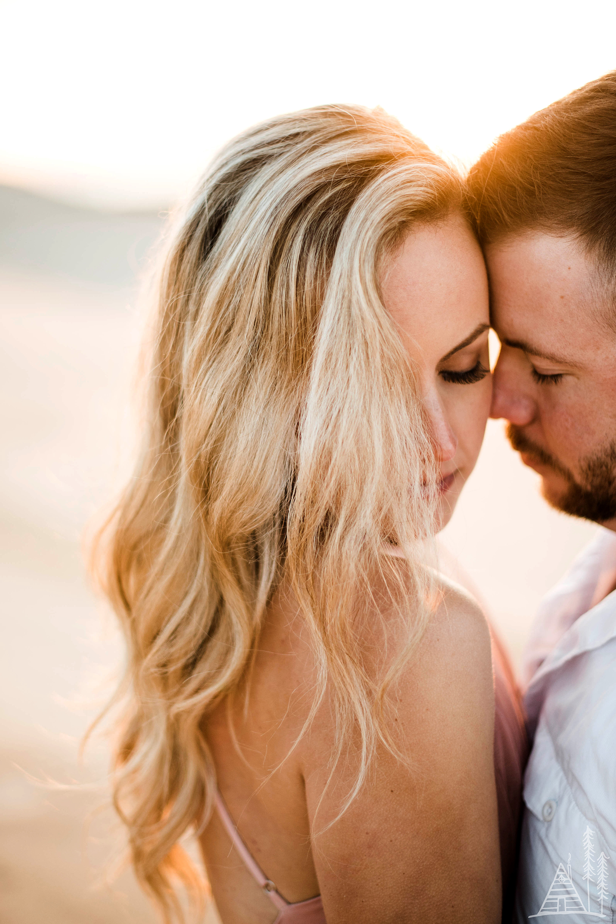
[[[3,924],[155,919],[129,873],[95,888],[110,842],[96,843],[84,820],[102,794],[46,791],[17,768],[60,782],[104,777],[105,744],[80,768],[77,742],[121,646],[88,589],[80,534],[130,442],[135,273],[160,226],[155,215],[88,213],[0,188]],[[541,594],[594,531],[548,510],[491,422],[444,541],[517,657]]]

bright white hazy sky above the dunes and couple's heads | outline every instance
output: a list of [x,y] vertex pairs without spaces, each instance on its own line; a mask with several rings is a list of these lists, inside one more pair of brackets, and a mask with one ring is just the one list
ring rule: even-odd
[[265,116],[380,103],[471,161],[616,67],[614,0],[0,0],[0,181],[162,204]]

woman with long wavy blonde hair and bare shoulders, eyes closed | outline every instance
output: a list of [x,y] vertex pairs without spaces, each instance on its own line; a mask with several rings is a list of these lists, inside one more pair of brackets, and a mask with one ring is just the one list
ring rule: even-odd
[[462,181],[381,111],[247,131],[176,226],[96,552],[116,804],[167,920],[190,830],[225,924],[500,919],[490,638],[429,565],[487,330]]

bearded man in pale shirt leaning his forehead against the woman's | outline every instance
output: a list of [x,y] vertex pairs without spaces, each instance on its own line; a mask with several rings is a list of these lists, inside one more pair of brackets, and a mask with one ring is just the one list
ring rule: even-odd
[[499,138],[469,186],[501,342],[492,417],[548,504],[604,528],[544,601],[524,657],[534,743],[515,920],[612,920],[616,72]]

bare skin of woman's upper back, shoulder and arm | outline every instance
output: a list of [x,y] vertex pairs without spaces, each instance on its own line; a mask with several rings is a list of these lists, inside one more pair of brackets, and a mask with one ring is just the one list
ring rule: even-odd
[[[456,920],[499,917],[489,634],[469,598],[445,584],[441,590],[395,692],[391,731],[409,765],[379,747],[369,779],[338,821],[361,739],[332,772],[335,728],[327,698],[302,736],[317,678],[289,599],[278,597],[271,608],[247,709],[239,697],[233,710],[239,748],[226,705],[207,723],[219,789],[244,843],[288,901],[321,894],[330,924],[424,920],[443,910],[444,880],[461,905],[465,895],[472,902],[474,910],[458,909]],[[399,644],[393,614],[375,616],[374,631],[363,639],[368,670],[382,667],[387,649],[393,660]],[[202,845],[225,924],[272,921],[275,909],[229,852],[216,814]]]

